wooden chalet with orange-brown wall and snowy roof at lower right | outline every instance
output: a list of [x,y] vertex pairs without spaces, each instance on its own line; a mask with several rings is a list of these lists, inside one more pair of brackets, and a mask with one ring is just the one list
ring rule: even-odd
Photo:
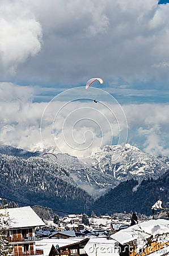
[[120,256],[146,256],[159,250],[169,251],[169,221],[144,221],[112,234],[111,238],[117,242]]

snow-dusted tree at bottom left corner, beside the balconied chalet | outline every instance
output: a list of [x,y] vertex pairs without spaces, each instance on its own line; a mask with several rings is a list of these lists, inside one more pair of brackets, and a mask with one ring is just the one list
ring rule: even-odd
[[9,218],[0,214],[0,255],[11,256],[12,246],[7,240],[7,229],[9,228]]

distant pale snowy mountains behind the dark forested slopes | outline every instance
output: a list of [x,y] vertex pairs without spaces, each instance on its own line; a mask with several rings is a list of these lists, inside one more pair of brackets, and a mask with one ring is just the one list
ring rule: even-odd
[[57,166],[60,172],[69,174],[69,177],[62,176],[62,179],[66,179],[71,184],[74,183],[73,185],[84,189],[93,196],[103,195],[110,188],[115,188],[121,181],[136,179],[140,183],[147,177],[157,179],[169,169],[166,156],[155,157],[130,144],[125,144],[124,147],[120,145],[105,146],[102,150],[93,152],[86,164],[68,154],[57,154],[55,163],[48,155],[43,156],[42,152],[32,152],[31,155],[31,152],[18,148],[1,146],[0,152],[3,151],[6,155],[16,155],[20,159],[28,159],[33,156],[32,159],[35,158],[39,165],[42,165],[43,170],[45,163],[49,163],[50,169]]

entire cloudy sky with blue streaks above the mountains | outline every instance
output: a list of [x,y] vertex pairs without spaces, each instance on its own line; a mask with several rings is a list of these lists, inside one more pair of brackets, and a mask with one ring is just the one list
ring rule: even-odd
[[[168,12],[162,0],[2,0],[0,143],[169,156]],[[86,90],[91,77],[104,83]]]

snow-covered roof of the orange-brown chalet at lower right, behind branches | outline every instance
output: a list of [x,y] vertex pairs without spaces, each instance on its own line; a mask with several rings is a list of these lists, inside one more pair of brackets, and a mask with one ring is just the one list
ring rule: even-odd
[[120,230],[119,232],[112,234],[111,238],[122,245],[134,240],[137,240],[141,245],[143,241],[151,235],[155,237],[155,235],[162,235],[166,233],[169,233],[169,221],[158,219],[140,222],[139,224],[130,226],[127,229]]

